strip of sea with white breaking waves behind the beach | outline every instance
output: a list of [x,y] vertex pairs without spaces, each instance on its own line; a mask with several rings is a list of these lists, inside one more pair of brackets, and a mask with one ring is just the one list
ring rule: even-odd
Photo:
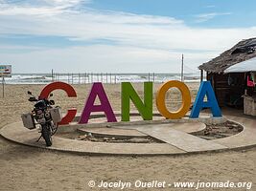
[[[48,84],[53,81],[62,81],[71,84],[85,84],[93,82],[121,83],[153,81],[162,83],[168,80],[181,80],[180,74],[117,74],[117,73],[54,73],[54,74],[12,74],[6,77],[6,84]],[[197,74],[184,74],[185,82],[199,82],[200,76]]]

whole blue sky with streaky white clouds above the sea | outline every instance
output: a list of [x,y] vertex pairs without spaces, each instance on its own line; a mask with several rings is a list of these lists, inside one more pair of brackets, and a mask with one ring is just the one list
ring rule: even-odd
[[256,36],[255,0],[0,0],[13,73],[179,73]]

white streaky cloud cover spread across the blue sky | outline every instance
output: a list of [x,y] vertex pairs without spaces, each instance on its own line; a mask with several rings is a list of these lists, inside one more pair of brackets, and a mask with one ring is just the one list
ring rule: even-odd
[[[97,11],[84,7],[90,1],[35,2],[10,4],[5,1],[1,4],[0,35],[58,36],[74,42],[99,40],[101,43],[40,48],[28,42],[22,52],[22,47],[0,42],[1,59],[15,64],[16,72],[43,71],[52,67],[74,72],[85,68],[91,72],[143,73],[147,68],[147,72],[172,73],[179,71],[181,53],[185,53],[186,63],[196,68],[239,40],[256,33],[256,27],[191,28],[174,17]],[[228,13],[212,12],[198,15],[198,19],[211,19]],[[8,51],[3,52],[5,46]]]

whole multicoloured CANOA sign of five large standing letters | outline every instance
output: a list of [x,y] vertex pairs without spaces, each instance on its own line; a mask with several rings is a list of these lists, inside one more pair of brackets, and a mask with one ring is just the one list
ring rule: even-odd
[[[143,100],[138,96],[136,90],[130,82],[123,82],[121,84],[121,112],[122,112],[122,121],[129,121],[130,117],[130,102],[134,104],[137,108],[139,114],[144,120],[152,119],[152,99],[153,99],[153,84],[152,82],[144,83],[144,98]],[[175,111],[171,112],[166,107],[166,93],[171,88],[177,88],[182,95],[182,105]],[[47,85],[41,92],[40,97],[47,97],[54,90],[63,90],[66,92],[68,97],[76,97],[77,93],[75,89],[64,82],[54,82]],[[205,96],[207,101],[204,100]],[[100,104],[96,104],[96,98],[99,98]],[[183,82],[171,80],[164,83],[158,90],[156,95],[156,107],[159,113],[168,119],[176,119],[184,117],[190,107],[191,107],[191,95],[189,88]],[[213,117],[221,117],[221,110],[218,105],[216,96],[212,89],[211,83],[209,81],[203,81],[200,84],[198,90],[198,96],[195,100],[191,111],[191,118],[199,117],[199,113],[202,108],[209,108],[212,112]],[[81,112],[81,118],[79,123],[87,123],[89,121],[90,115],[95,112],[105,113],[105,117],[108,122],[116,122],[117,119],[112,110],[111,104],[105,94],[105,89],[102,83],[97,82],[92,84],[91,91],[85,100],[83,110]],[[62,118],[59,124],[68,124],[71,122],[74,117],[76,117],[77,109],[72,108],[67,111],[65,117]]]

